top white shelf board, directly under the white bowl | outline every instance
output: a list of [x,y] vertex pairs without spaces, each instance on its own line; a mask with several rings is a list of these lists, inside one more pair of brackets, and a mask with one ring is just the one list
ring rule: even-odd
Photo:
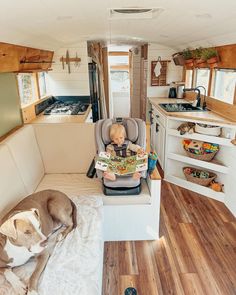
[[167,129],[167,133],[172,136],[181,137],[181,138],[189,138],[189,139],[195,139],[199,141],[205,141],[205,142],[211,142],[211,143],[217,143],[224,146],[230,146],[233,147],[234,145],[231,143],[232,139],[224,138],[224,137],[218,137],[218,136],[210,136],[200,133],[185,133],[184,135],[180,135],[179,131],[176,129]]

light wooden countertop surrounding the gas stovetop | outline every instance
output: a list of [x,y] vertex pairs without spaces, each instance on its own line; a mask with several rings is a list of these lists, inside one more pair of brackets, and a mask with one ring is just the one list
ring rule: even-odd
[[41,113],[30,124],[38,123],[85,123],[89,112],[91,111],[91,104],[87,108],[84,115],[44,115]]

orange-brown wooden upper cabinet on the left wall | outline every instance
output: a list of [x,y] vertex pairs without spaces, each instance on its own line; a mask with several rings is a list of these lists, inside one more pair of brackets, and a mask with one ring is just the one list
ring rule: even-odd
[[53,54],[53,51],[0,42],[0,72],[47,71]]

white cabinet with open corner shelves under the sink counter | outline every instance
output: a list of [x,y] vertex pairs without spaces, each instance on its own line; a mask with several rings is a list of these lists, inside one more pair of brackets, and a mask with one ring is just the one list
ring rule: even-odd
[[[184,122],[216,125],[206,121],[186,119],[182,117],[165,116],[152,105],[151,145],[157,152],[158,161],[164,170],[165,180],[186,189],[192,190],[223,202],[236,215],[236,146],[231,143],[235,138],[235,124],[217,124],[222,128],[221,136],[210,136],[200,133],[180,135],[177,128]],[[183,149],[183,139],[219,144],[220,150],[211,162],[190,158]],[[210,187],[204,187],[187,181],[183,173],[184,167],[194,167],[214,172],[216,181],[224,184],[223,192],[216,192]]]

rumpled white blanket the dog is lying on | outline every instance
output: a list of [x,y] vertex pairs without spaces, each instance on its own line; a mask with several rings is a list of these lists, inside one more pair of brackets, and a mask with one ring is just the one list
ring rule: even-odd
[[[42,273],[39,295],[100,295],[103,263],[102,198],[73,197],[77,228],[59,242]],[[27,283],[35,261],[14,272]],[[15,295],[0,275],[0,295]]]

